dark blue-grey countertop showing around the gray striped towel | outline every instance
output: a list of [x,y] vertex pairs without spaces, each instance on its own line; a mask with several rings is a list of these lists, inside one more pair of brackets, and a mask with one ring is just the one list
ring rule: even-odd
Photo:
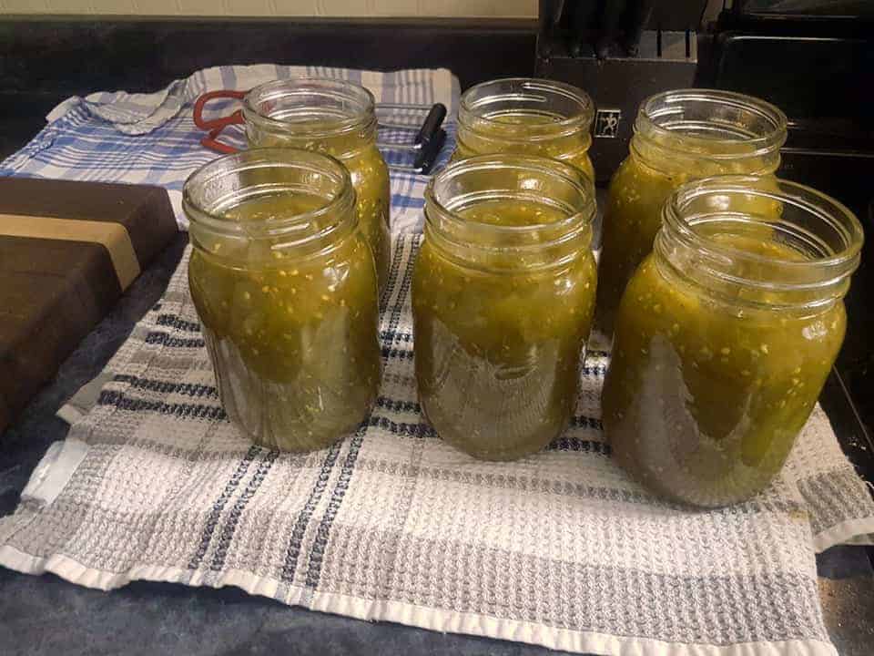
[[[187,236],[144,272],[115,310],[81,343],[56,380],[0,436],[0,515],[11,513],[46,447],[66,436],[56,409],[97,375],[133,325],[158,301]],[[843,399],[843,400],[842,400]],[[834,377],[823,405],[838,433],[856,439],[854,416]],[[838,547],[818,557],[826,624],[841,656],[869,656],[874,644],[874,575],[866,548]],[[54,575],[0,568],[4,654],[243,654],[281,652],[518,655],[554,653],[513,642],[414,629],[282,606],[239,589],[137,582],[101,592]]]

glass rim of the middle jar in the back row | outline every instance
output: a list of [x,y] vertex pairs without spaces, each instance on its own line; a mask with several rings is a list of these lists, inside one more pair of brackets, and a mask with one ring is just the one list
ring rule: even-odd
[[592,98],[579,87],[540,77],[499,77],[497,79],[488,80],[474,85],[462,94],[459,103],[459,120],[463,121],[465,114],[471,114],[477,118],[477,120],[482,120],[487,124],[506,127],[507,124],[505,122],[483,116],[483,114],[477,110],[485,104],[488,99],[493,100],[496,97],[507,97],[508,99],[513,99],[514,96],[519,95],[518,91],[486,95],[476,101],[473,101],[472,98],[478,93],[487,92],[491,87],[499,87],[500,85],[507,84],[518,85],[522,91],[530,89],[540,93],[553,94],[555,97],[569,98],[577,103],[580,108],[579,114],[550,123],[544,123],[544,126],[548,126],[549,128],[572,128],[575,131],[578,128],[588,128],[591,125],[593,118],[595,118],[595,104],[593,103]]

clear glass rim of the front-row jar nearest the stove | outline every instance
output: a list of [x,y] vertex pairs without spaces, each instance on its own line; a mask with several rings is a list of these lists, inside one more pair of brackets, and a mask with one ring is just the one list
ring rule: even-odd
[[[732,194],[777,201],[782,204],[783,208],[786,206],[794,207],[796,210],[821,221],[822,229],[834,231],[838,235],[842,247],[830,254],[824,253],[821,257],[802,261],[777,261],[762,253],[745,251],[719,243],[694,230],[694,226],[696,223],[700,223],[701,219],[697,218],[696,220],[696,217],[687,216],[686,210],[695,200],[708,195],[725,197]],[[731,212],[725,210],[725,213]],[[748,214],[748,212],[743,211],[737,213]],[[784,214],[781,213],[780,217],[783,216]],[[754,281],[728,272],[706,271],[707,274],[729,282],[785,292],[828,290],[828,288],[840,286],[859,266],[860,252],[864,241],[864,231],[859,219],[852,210],[849,210],[840,201],[798,182],[760,176],[722,175],[686,183],[667,200],[662,211],[662,219],[664,227],[656,241],[663,250],[667,248],[666,241],[672,241],[705,253],[709,261],[746,261],[759,265],[771,264],[776,265],[781,272],[821,271],[821,275],[809,276],[805,282],[792,282],[791,275],[788,276],[787,281]],[[787,220],[780,220],[780,223],[783,224],[781,227],[785,231],[792,231],[791,226],[787,225]],[[799,228],[797,231],[802,232]]]

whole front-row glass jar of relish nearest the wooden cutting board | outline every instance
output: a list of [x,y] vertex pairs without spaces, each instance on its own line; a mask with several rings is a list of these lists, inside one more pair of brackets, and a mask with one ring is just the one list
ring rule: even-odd
[[253,442],[302,451],[354,430],[376,398],[376,271],[337,159],[251,149],[182,192],[188,282],[219,395]]

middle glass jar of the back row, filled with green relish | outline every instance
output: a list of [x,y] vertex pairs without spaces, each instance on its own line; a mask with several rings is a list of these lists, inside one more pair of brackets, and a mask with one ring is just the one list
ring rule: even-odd
[[516,153],[558,159],[595,179],[589,159],[595,106],[582,89],[562,82],[509,77],[462,94],[453,160]]

